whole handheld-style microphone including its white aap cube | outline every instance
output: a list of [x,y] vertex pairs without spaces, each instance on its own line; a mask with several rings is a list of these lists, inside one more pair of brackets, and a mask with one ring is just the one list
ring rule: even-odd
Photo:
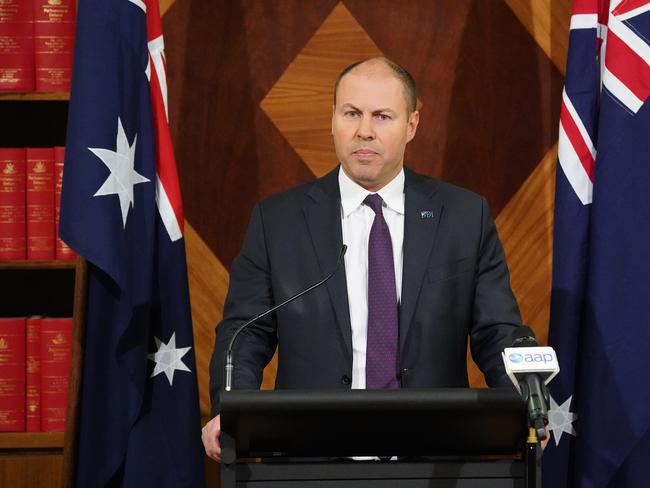
[[546,384],[560,371],[552,347],[539,347],[533,331],[526,326],[515,331],[512,347],[503,361],[506,373],[528,405],[528,419],[540,440],[546,439],[549,393]]

